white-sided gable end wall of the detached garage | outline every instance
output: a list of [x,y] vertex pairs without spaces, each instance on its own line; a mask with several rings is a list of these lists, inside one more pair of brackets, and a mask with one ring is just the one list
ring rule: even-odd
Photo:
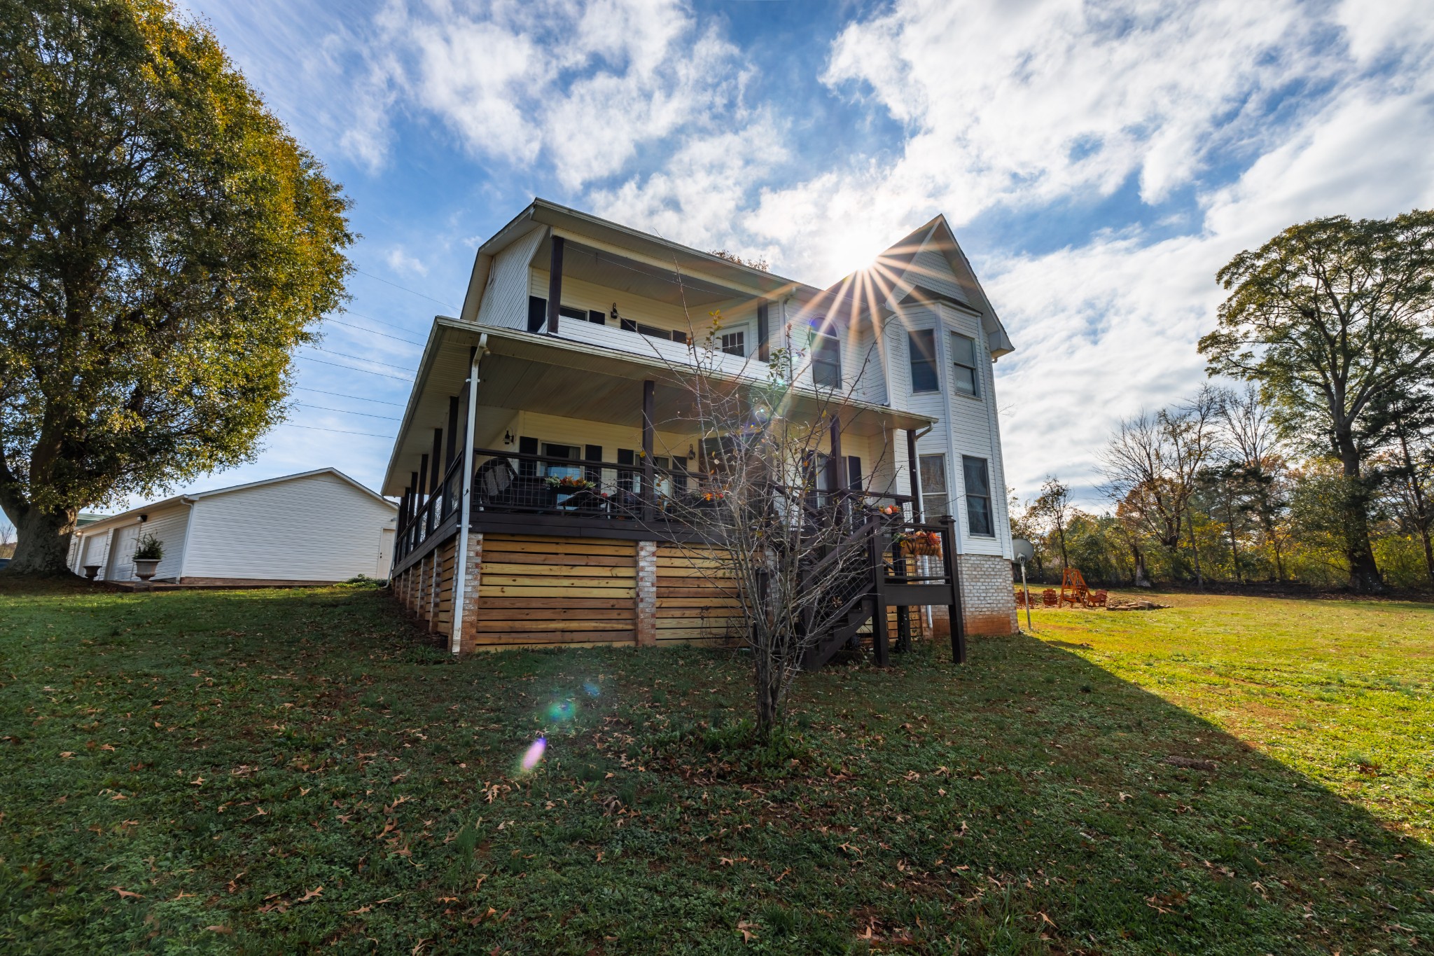
[[184,576],[347,580],[373,576],[394,509],[333,473],[194,503]]

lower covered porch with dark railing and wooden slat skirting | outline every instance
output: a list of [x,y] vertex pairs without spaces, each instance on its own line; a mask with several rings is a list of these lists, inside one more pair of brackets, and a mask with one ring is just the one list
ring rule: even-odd
[[[384,487],[402,502],[391,580],[455,652],[740,636],[737,593],[710,573],[720,543],[701,515],[716,447],[695,426],[690,370],[453,320],[436,322],[429,350]],[[816,407],[799,398],[787,414]],[[898,473],[916,473],[912,436],[928,424],[836,407],[812,460],[810,520],[840,513],[855,529],[885,507],[883,527],[919,522],[896,489]],[[945,568],[929,570],[892,566],[883,582],[913,603],[949,603]],[[911,632],[906,612],[891,618]]]

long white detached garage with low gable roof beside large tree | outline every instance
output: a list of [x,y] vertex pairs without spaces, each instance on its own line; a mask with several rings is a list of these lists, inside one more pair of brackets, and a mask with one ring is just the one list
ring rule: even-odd
[[135,546],[163,546],[156,582],[323,583],[387,578],[399,506],[337,469],[132,507],[76,529],[70,569],[133,580]]

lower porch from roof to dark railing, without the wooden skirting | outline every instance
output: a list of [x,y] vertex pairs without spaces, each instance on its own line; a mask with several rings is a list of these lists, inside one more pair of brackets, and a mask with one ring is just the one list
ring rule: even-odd
[[[558,330],[435,321],[383,489],[403,500],[397,568],[457,526],[465,460],[475,530],[701,539],[693,519],[714,484],[688,345],[568,318]],[[701,364],[733,383],[767,374],[766,363],[720,351]],[[784,414],[823,410],[835,424],[813,457],[813,507],[860,487],[847,496],[858,510],[882,499],[913,517],[895,494],[909,469],[898,433],[932,420],[812,388],[796,388]]]

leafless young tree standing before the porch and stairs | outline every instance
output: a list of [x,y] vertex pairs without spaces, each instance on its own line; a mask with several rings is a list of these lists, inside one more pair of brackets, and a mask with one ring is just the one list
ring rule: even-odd
[[905,499],[872,487],[875,476],[892,474],[885,450],[850,484],[840,443],[860,371],[840,387],[813,386],[804,353],[774,348],[769,364],[733,374],[720,328],[714,312],[706,334],[688,337],[688,363],[668,364],[684,401],[663,427],[697,436],[700,467],[652,470],[648,483],[668,489],[657,520],[708,542],[684,552],[690,573],[740,606],[734,636],[751,651],[757,731],[767,740],[796,675],[886,613],[870,585],[891,536],[923,532],[902,523]]

